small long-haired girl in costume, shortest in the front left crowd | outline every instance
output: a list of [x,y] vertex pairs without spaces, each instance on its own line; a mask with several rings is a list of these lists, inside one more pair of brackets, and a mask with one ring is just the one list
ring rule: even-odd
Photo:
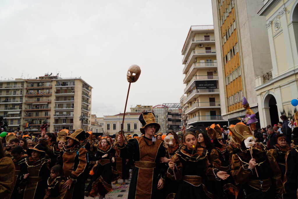
[[66,199],[66,188],[63,188],[65,178],[61,165],[55,165],[50,170],[50,177],[48,179],[48,190],[44,199]]

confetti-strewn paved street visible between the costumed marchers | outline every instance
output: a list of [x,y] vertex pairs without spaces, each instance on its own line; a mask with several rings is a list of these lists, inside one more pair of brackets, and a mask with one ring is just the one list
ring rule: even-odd
[[[105,199],[112,199],[112,198],[127,199],[130,181],[131,181],[131,178],[129,178],[129,180],[126,180],[126,184],[122,184],[123,182],[122,180],[118,180],[118,183],[120,184],[112,184],[113,191],[105,195]],[[92,199],[92,197],[85,196],[85,199]]]

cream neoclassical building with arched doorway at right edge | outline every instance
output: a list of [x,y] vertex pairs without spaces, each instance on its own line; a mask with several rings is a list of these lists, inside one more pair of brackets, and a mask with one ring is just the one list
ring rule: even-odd
[[[262,4],[263,3],[263,4]],[[272,67],[256,77],[255,90],[260,124],[274,125],[280,116],[292,118],[297,99],[298,73],[298,1],[259,0],[259,18],[269,39]]]

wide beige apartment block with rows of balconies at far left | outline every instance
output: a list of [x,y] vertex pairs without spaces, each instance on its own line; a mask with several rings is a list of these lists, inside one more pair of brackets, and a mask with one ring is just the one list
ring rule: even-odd
[[40,132],[45,123],[48,132],[63,128],[89,130],[91,89],[81,78],[48,74],[36,79],[0,81],[0,115],[8,121],[9,130]]

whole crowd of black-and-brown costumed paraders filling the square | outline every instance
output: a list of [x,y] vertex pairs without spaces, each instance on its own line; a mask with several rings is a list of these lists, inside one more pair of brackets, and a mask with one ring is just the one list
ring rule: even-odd
[[0,198],[102,199],[130,171],[130,199],[298,198],[295,118],[282,115],[260,130],[239,122],[162,134],[154,113],[144,112],[140,137],[46,133],[46,125],[38,137],[9,132],[0,146]]

